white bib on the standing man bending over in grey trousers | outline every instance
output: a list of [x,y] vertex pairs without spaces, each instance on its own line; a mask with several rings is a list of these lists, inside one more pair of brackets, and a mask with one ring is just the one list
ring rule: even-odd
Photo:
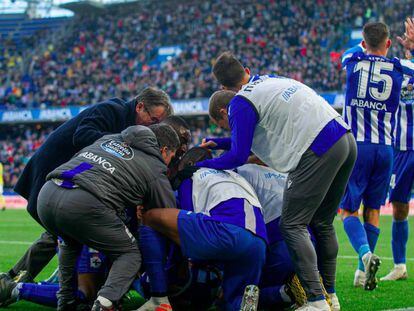
[[261,76],[244,85],[237,96],[251,102],[258,113],[252,151],[278,172],[293,171],[331,120],[349,128],[321,96],[293,79]]

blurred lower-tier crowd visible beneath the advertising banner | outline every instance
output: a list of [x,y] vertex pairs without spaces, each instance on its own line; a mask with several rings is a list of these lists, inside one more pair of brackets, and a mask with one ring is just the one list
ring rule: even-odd
[[[201,143],[205,137],[223,137],[227,133],[209,122],[207,116],[188,119],[192,142],[191,147]],[[42,145],[54,127],[7,127],[0,136],[0,162],[3,164],[4,187],[12,189],[24,166],[33,153]],[[7,134],[6,134],[7,133]]]

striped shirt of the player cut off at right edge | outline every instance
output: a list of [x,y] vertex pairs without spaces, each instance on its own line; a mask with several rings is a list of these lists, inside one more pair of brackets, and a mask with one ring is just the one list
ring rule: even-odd
[[395,149],[414,150],[414,78],[405,77],[394,131]]

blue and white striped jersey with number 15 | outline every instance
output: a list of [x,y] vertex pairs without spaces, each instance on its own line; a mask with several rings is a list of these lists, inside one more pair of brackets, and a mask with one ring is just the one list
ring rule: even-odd
[[395,117],[404,75],[414,66],[398,58],[367,55],[361,46],[342,57],[346,69],[343,116],[357,142],[392,145]]

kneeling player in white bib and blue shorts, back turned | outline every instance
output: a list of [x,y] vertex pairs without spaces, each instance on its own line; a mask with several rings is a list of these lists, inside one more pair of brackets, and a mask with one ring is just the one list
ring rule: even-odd
[[[178,171],[208,155],[193,148]],[[225,308],[239,311],[245,287],[259,284],[265,262],[266,228],[256,193],[232,171],[201,168],[192,177],[180,175],[174,186],[182,210],[151,209],[143,221],[180,245],[184,256],[222,264]],[[157,309],[157,300],[151,298],[139,310]]]

